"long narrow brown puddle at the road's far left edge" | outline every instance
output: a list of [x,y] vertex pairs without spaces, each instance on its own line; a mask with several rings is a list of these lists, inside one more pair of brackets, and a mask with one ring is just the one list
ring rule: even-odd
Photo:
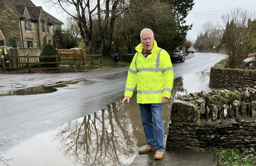
[[56,91],[57,91],[57,89],[55,89],[55,88],[46,87],[46,86],[38,86],[38,87],[17,90],[14,92],[2,94],[0,96],[32,95],[32,94],[52,93],[52,92],[56,92]]

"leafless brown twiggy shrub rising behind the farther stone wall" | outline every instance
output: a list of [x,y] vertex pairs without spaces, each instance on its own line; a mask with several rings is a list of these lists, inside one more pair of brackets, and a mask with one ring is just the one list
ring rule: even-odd
[[243,67],[243,60],[250,52],[256,51],[256,24],[250,20],[255,19],[256,14],[248,12],[243,8],[236,8],[229,13],[221,16],[223,24],[229,25],[223,27],[225,29],[225,49],[227,57],[228,68],[241,68]]

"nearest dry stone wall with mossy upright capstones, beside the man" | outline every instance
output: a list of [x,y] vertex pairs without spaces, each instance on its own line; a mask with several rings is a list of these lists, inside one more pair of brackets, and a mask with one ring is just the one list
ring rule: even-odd
[[201,91],[178,99],[172,103],[167,150],[256,147],[256,86],[235,92]]

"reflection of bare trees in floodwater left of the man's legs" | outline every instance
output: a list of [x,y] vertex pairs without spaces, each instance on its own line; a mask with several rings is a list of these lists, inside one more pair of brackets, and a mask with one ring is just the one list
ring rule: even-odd
[[63,124],[53,139],[75,165],[126,165],[137,150],[131,120],[121,100],[106,109]]

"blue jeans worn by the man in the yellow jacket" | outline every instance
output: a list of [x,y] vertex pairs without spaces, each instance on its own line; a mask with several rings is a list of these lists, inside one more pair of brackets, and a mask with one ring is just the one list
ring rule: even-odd
[[154,146],[163,152],[162,104],[139,104],[142,125],[147,139],[147,146]]

